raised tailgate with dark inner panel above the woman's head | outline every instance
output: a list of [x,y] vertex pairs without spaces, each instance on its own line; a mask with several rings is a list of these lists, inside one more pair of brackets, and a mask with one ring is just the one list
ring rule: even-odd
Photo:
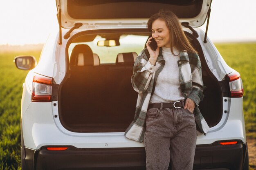
[[[57,11],[61,3],[61,26],[66,29],[71,29],[75,23],[82,23],[80,28],[100,28],[105,26],[124,27],[124,26],[145,26],[148,18],[159,9],[170,9],[180,18],[180,22],[189,22],[192,27],[199,27],[204,24],[207,18],[211,0],[186,0],[186,1],[81,1],[81,0],[56,0]],[[191,8],[190,8],[191,6]],[[69,10],[70,7],[73,7]],[[111,15],[111,8],[115,10],[115,15]],[[200,9],[199,9],[200,8]],[[93,11],[90,11],[92,10]],[[99,10],[97,10],[99,9]],[[113,9],[113,10],[114,10]],[[148,10],[150,9],[150,10]],[[198,13],[190,16],[195,10]],[[70,11],[75,11],[74,14]],[[95,12],[99,11],[99,12]],[[81,13],[79,15],[78,13]],[[117,15],[120,13],[119,15]],[[186,13],[184,16],[182,14]],[[79,15],[74,17],[74,15]],[[123,15],[123,17],[122,17]],[[196,16],[195,16],[196,15]],[[91,16],[94,16],[91,18]],[[122,18],[121,18],[122,17]],[[124,18],[125,17],[125,18]],[[186,17],[186,18],[182,18]],[[90,18],[90,19],[89,19]],[[115,18],[115,19],[113,19]]]

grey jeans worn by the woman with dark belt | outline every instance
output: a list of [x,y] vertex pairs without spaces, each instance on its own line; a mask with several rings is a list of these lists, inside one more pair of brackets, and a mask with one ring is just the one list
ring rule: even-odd
[[193,113],[184,108],[151,108],[144,146],[147,170],[192,170],[196,145]]

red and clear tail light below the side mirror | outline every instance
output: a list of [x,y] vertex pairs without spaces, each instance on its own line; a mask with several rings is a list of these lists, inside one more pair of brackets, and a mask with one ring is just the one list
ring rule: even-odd
[[35,75],[32,84],[32,102],[52,102],[53,79]]

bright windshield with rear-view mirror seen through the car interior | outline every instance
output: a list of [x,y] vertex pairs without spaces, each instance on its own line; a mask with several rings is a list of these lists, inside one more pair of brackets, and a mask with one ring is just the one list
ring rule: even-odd
[[69,59],[74,47],[86,44],[97,54],[101,64],[115,63],[119,53],[136,52],[144,48],[150,33],[109,33],[82,35],[73,40],[68,48]]

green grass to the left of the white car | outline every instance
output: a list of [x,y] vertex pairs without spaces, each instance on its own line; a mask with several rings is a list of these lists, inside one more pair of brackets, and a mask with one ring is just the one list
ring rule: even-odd
[[34,55],[40,51],[0,53],[0,170],[20,168],[20,102],[22,83],[28,71],[18,70],[17,55]]

